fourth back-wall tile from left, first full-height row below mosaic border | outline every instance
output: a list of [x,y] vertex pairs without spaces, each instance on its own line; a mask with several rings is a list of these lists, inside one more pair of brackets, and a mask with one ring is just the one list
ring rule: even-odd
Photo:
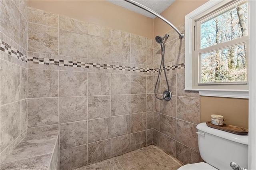
[[130,75],[111,74],[111,94],[130,94]]

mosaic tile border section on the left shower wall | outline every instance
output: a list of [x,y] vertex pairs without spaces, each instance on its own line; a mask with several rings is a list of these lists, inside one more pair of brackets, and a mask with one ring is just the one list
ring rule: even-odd
[[21,61],[24,61],[25,63],[28,62],[28,58],[26,55],[24,55],[22,52],[18,51],[16,48],[11,47],[4,41],[0,40],[1,45],[0,45],[0,50],[3,51],[4,53],[7,53],[11,55],[12,57],[15,57],[17,59],[20,59]]

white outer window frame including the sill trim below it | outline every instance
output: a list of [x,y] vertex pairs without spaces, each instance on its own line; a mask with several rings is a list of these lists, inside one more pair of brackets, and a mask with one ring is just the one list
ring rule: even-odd
[[[210,0],[204,5],[200,6],[190,14],[185,16],[185,89],[188,91],[199,91],[200,96],[214,96],[214,97],[232,97],[248,99],[248,89],[221,89],[220,86],[209,86],[208,88],[198,88],[194,86],[194,25],[195,20],[214,11],[231,1],[226,0]],[[242,1],[240,1],[242,2]],[[248,12],[249,15],[249,12]],[[249,17],[250,18],[250,17]],[[248,22],[249,23],[249,22]],[[248,43],[247,43],[248,45]],[[247,47],[249,49],[249,47]],[[248,55],[247,55],[248,57]],[[247,64],[248,67],[248,64]],[[247,74],[248,76],[248,74]],[[230,83],[232,84],[232,83]],[[217,87],[218,86],[218,87]],[[227,86],[228,87],[228,86]],[[248,87],[248,86],[247,86]],[[207,89],[206,89],[207,88]]]

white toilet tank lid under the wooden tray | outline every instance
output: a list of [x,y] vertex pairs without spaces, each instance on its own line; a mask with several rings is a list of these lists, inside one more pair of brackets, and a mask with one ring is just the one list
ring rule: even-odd
[[248,134],[239,135],[239,134],[233,134],[233,133],[230,133],[230,132],[225,132],[223,130],[218,130],[218,129],[215,129],[215,128],[208,127],[206,125],[206,123],[200,123],[196,126],[196,128],[198,130],[203,131],[203,132],[213,134],[215,136],[219,136],[221,138],[224,138],[224,139],[227,139],[227,140],[232,140],[234,142],[238,142],[238,143],[241,143],[241,144],[247,144],[248,145],[248,143],[249,143]]

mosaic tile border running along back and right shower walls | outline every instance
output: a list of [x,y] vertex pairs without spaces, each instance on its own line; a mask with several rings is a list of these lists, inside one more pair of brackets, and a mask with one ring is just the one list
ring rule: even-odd
[[[86,63],[86,62],[80,62],[80,61],[68,61],[68,60],[60,60],[60,59],[38,58],[38,57],[28,57],[28,61],[33,62],[33,64],[56,65],[56,66],[66,66],[66,67],[112,69],[112,70],[121,70],[121,71],[145,72],[145,73],[159,72],[159,68],[150,69],[150,68],[142,68],[142,67],[130,67],[125,65]],[[166,67],[166,71],[175,70],[175,69],[184,69],[184,68],[185,68],[184,63],[176,64],[176,65],[168,65]]]

